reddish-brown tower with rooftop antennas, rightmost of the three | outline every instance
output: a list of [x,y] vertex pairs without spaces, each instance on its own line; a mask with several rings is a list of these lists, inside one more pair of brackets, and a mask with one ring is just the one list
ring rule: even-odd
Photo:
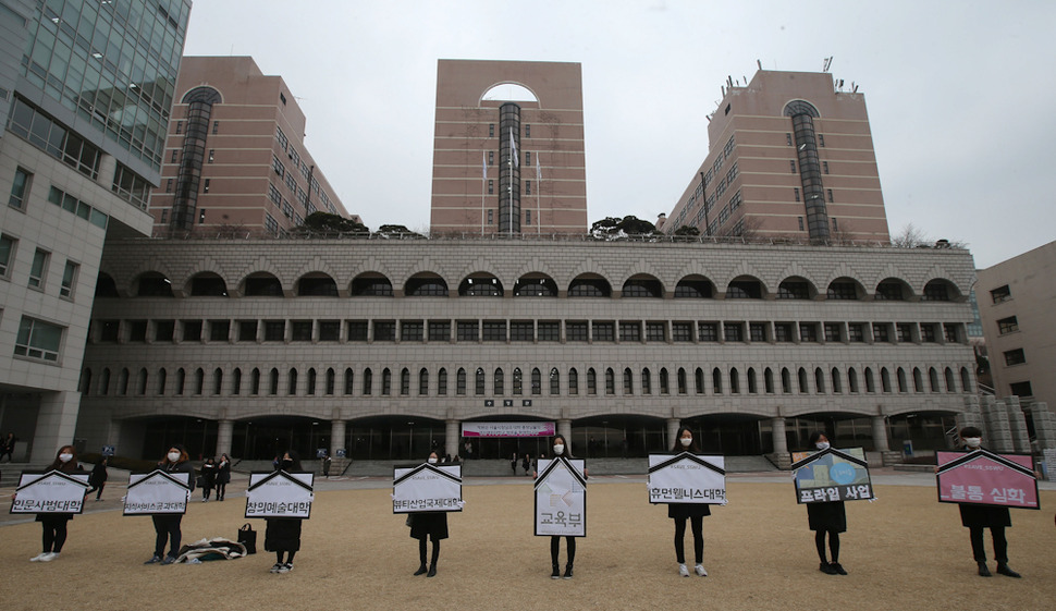
[[888,242],[865,99],[828,73],[728,82],[708,157],[663,223],[701,235]]

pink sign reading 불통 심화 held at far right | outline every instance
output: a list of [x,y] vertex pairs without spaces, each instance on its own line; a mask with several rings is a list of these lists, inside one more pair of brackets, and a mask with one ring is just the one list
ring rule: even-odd
[[935,452],[935,459],[940,502],[1042,509],[1029,455],[980,448],[968,453]]

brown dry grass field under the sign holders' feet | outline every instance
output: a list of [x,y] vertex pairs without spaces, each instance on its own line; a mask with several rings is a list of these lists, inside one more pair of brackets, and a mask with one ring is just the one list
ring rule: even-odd
[[[296,567],[285,575],[268,572],[274,555],[262,551],[262,521],[254,521],[260,553],[173,566],[142,564],[154,545],[148,517],[79,515],[51,563],[28,562],[39,552],[38,524],[2,526],[0,600],[5,611],[1056,608],[1052,509],[1012,511],[1010,565],[1023,578],[982,578],[957,508],[936,502],[929,487],[877,486],[879,501],[847,503],[840,562],[850,574],[835,576],[818,571],[790,484],[730,481],[729,505],[704,518],[709,576],[683,578],[665,508],[647,502],[641,482],[599,482],[589,488],[588,536],[570,581],[550,578],[549,540],[532,536],[528,482],[464,488],[465,511],[450,516],[433,578],[412,576],[417,541],[404,516],[392,514],[390,492],[318,492]],[[1041,499],[1053,508],[1056,491]],[[184,542],[234,538],[244,510],[244,498],[230,493],[223,503],[193,503]],[[686,548],[691,559],[691,535]],[[562,543],[562,563],[564,554]]]

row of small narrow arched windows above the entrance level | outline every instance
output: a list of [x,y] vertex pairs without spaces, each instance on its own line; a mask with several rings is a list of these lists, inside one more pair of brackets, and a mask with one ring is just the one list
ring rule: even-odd
[[[879,370],[879,376],[876,375]],[[545,379],[544,379],[544,371]],[[180,367],[172,376],[164,368],[151,375],[147,368],[139,368],[133,378],[127,367],[113,376],[110,368],[99,371],[98,379],[91,368],[82,372],[81,390],[84,394],[119,396],[136,395],[359,395],[359,396],[443,396],[443,395],[651,395],[651,394],[843,394],[843,393],[958,393],[973,392],[971,374],[967,367],[958,372],[951,367],[887,367],[871,366],[861,368],[814,367],[704,367],[637,370],[630,367],[588,367],[580,379],[579,369],[568,368],[562,374],[556,367],[515,367],[508,382],[502,367],[486,371],[477,367],[472,374],[458,367],[449,377],[447,368],[440,367],[435,375],[426,367],[417,376],[408,367],[381,368],[376,376],[370,367],[361,371],[345,368],[339,374],[333,367],[317,369],[309,367],[302,375],[296,367],[280,371],[278,367],[251,368],[247,375],[235,367],[230,372],[217,367],[209,372],[197,367]],[[285,378],[285,379],[283,379]],[[377,383],[376,383],[377,378]],[[416,378],[416,379],[414,379]],[[490,380],[489,380],[490,378]],[[562,384],[564,378],[564,386]],[[958,379],[959,378],[959,379]],[[302,381],[303,380],[303,381]],[[358,380],[358,381],[357,381]],[[490,381],[490,383],[489,383]],[[959,384],[959,386],[958,386]],[[618,392],[617,392],[618,391]]]

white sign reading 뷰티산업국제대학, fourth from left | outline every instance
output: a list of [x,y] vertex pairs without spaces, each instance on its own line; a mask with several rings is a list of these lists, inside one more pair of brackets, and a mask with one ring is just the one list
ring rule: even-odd
[[395,467],[392,513],[462,511],[462,465],[422,463]]

